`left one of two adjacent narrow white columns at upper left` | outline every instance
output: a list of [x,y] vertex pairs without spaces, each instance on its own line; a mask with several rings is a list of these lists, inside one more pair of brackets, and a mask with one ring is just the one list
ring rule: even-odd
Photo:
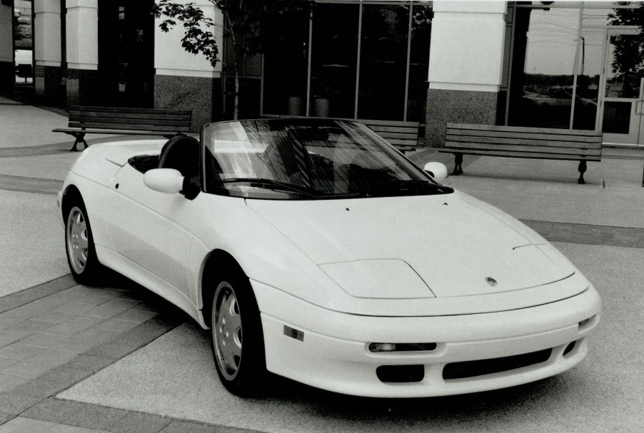
[[45,105],[64,103],[61,68],[61,1],[34,0],[34,91]]

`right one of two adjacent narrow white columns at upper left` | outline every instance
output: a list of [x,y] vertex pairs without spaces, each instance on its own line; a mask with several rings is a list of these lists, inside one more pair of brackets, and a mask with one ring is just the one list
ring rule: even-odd
[[67,0],[67,105],[93,105],[99,85],[99,2]]

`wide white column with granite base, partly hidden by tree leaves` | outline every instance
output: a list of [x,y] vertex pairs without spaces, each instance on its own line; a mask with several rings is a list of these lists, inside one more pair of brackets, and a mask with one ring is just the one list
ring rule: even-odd
[[[187,2],[187,1],[183,1]],[[207,0],[193,0],[206,16],[218,24],[213,31],[223,55],[223,15]],[[163,17],[154,21],[154,108],[192,110],[193,132],[221,113],[221,63],[213,68],[203,54],[190,54],[181,46],[183,26],[165,33],[159,29]]]

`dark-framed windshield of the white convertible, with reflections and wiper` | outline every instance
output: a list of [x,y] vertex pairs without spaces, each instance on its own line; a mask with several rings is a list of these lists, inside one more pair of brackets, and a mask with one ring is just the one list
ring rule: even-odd
[[434,195],[436,183],[361,123],[267,119],[202,131],[206,193],[274,200]]

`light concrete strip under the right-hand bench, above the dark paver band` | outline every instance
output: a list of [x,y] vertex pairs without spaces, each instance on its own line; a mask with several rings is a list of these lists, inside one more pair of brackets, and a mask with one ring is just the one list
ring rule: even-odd
[[643,164],[589,163],[586,184],[578,185],[574,162],[484,156],[445,183],[515,218],[644,228]]

